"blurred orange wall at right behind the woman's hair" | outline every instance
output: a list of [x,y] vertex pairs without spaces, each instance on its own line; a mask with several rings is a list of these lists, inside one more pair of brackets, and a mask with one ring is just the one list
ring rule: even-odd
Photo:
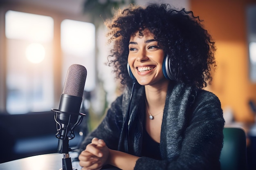
[[204,20],[216,42],[218,69],[209,91],[225,110],[231,107],[236,121],[252,122],[249,99],[256,102],[256,84],[249,81],[246,7],[256,0],[190,0],[191,10]]

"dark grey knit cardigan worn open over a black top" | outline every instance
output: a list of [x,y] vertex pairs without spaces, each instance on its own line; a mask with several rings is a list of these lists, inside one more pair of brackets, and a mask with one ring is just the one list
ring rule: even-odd
[[[84,139],[80,152],[93,137],[97,137],[103,139],[110,149],[141,156],[144,86],[135,85],[128,113],[130,94],[131,89],[126,89],[123,95],[117,97],[101,124]],[[171,84],[166,95],[161,128],[162,160],[141,157],[134,170],[220,170],[224,124],[216,95],[184,84]]]

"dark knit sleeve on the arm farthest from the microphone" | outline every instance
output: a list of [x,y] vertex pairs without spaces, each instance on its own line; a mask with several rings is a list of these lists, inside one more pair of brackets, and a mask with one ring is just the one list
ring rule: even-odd
[[191,115],[187,115],[187,127],[181,133],[184,136],[175,157],[163,160],[141,157],[136,162],[135,170],[220,169],[219,157],[225,121],[218,97],[201,91],[189,113]]

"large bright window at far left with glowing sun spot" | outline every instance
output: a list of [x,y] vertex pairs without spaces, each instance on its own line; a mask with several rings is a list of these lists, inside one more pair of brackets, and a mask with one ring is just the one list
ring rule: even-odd
[[7,112],[22,114],[52,108],[54,20],[18,11],[5,14]]

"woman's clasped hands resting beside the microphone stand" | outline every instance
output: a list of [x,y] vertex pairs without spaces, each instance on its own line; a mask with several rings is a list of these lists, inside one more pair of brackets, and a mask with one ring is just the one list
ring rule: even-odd
[[79,155],[79,164],[82,170],[100,170],[108,163],[109,149],[102,139],[93,138]]

